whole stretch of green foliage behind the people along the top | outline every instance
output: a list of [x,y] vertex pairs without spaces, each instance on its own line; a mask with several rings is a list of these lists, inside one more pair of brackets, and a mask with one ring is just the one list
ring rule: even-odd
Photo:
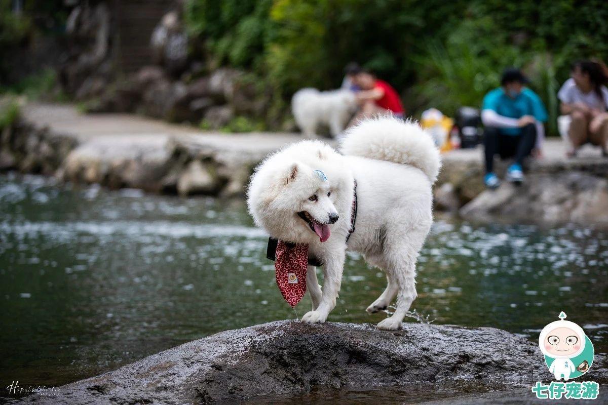
[[547,104],[554,132],[570,63],[608,60],[605,0],[188,0],[186,18],[216,65],[261,78],[271,121],[297,89],[338,87],[349,61],[407,94],[410,114],[479,106],[516,66]]

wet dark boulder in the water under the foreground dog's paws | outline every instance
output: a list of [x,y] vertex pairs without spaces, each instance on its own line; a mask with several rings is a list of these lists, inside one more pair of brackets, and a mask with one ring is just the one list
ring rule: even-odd
[[[596,359],[589,378],[603,381],[605,359]],[[495,328],[404,324],[383,332],[371,325],[277,321],[188,342],[67,384],[55,398],[30,396],[22,403],[234,403],[278,393],[288,398],[313,387],[480,380],[513,389],[548,375],[536,344]]]

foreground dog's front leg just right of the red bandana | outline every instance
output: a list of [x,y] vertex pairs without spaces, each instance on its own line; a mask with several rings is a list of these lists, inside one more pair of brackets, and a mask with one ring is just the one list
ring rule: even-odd
[[[339,253],[332,254],[330,259],[323,257],[323,292],[321,301],[316,310],[302,316],[302,322],[308,324],[322,324],[336,306],[336,298],[342,284],[342,270],[344,270],[344,251],[341,247]],[[333,253],[333,252],[332,252]]]

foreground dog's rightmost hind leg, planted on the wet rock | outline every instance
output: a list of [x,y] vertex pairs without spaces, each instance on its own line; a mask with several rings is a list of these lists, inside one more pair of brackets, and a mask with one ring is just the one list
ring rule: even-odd
[[378,329],[397,330],[401,328],[406,312],[410,309],[412,302],[416,299],[416,258],[418,252],[411,247],[402,247],[401,250],[393,250],[391,257],[387,257],[391,277],[396,281],[397,309],[389,318],[378,323]]

